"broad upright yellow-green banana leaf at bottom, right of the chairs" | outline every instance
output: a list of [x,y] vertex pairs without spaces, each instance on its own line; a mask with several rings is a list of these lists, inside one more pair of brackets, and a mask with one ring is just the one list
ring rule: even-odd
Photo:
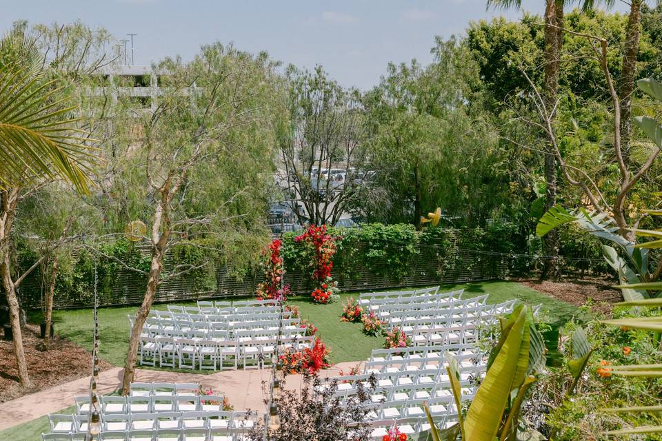
[[529,361],[529,327],[525,308],[518,309],[518,312],[508,338],[469,407],[464,420],[465,440],[494,441],[510,393],[524,381]]

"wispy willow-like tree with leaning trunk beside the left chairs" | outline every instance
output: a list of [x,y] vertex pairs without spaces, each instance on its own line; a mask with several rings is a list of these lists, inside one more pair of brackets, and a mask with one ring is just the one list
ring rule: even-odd
[[[203,46],[190,63],[165,59],[154,66],[158,102],[139,108],[122,90],[97,90],[90,103],[105,106],[94,115],[108,169],[95,203],[105,209],[108,234],[128,222],[133,240],[148,244],[149,265],[119,260],[146,280],[126,356],[122,393],[134,379],[143,324],[164,280],[201,269],[205,262],[164,269],[176,245],[204,246],[211,257],[217,243],[232,237],[266,241],[263,213],[272,185],[274,86],[276,64],[266,54],[253,56],[220,43]],[[106,97],[117,96],[117,103]],[[202,239],[205,239],[204,241]],[[202,245],[204,243],[204,245]],[[102,257],[100,247],[88,244]],[[248,250],[245,250],[248,252]]]

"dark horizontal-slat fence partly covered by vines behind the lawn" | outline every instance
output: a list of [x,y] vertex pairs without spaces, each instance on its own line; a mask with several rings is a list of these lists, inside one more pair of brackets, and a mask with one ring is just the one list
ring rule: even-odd
[[[147,252],[147,250],[146,250]],[[452,265],[448,262],[452,261]],[[348,264],[345,264],[347,266]],[[172,258],[165,258],[165,271],[172,268]],[[448,256],[441,247],[421,245],[421,253],[408,264],[408,271],[399,278],[389,274],[388,265],[374,263],[372,267],[359,264],[352,267],[334,268],[332,276],[338,280],[342,291],[369,291],[397,287],[417,287],[445,283],[464,283],[479,280],[496,280],[508,273],[508,263],[502,256],[459,250]],[[219,266],[216,271],[217,287],[214,290],[199,290],[191,276],[164,280],[157,291],[157,302],[181,302],[205,298],[233,298],[251,296],[261,278],[249,274],[237,279],[230,269]],[[285,283],[290,283],[293,294],[310,292],[310,274],[299,270],[288,271]],[[137,305],[143,300],[146,278],[132,271],[120,271],[110,291],[99,298],[101,306]],[[23,281],[19,296],[25,309],[38,309],[43,305],[44,287],[41,275],[34,271]],[[54,298],[54,308],[91,307],[92,293],[88,296],[59,294]]]

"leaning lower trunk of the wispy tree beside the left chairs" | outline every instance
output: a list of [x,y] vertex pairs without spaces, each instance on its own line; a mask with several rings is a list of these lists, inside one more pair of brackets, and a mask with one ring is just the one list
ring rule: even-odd
[[157,294],[157,287],[159,287],[159,278],[163,270],[163,252],[154,247],[152,249],[152,265],[147,279],[147,289],[145,291],[145,298],[143,303],[138,308],[136,318],[133,322],[131,329],[131,338],[129,339],[129,351],[126,354],[126,362],[124,363],[124,378],[122,380],[122,395],[129,394],[129,387],[136,375],[136,358],[138,355],[138,345],[140,343],[140,334],[143,330],[143,325],[150,315],[154,296]]

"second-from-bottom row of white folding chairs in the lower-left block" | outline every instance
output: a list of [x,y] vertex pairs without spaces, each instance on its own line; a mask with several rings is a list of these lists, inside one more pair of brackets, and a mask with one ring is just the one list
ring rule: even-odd
[[[141,413],[101,414],[102,431],[157,429],[250,429],[254,413],[233,411],[156,411]],[[77,433],[88,430],[89,415],[49,414],[52,433]]]

